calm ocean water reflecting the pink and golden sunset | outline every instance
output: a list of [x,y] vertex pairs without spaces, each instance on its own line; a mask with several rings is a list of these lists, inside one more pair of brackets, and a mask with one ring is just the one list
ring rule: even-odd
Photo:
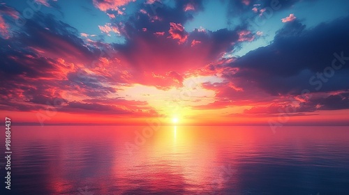
[[1,194],[349,194],[349,127],[11,130]]

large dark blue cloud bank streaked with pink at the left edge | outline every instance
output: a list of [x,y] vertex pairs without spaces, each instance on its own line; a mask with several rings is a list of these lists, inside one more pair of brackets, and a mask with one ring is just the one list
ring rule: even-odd
[[117,68],[114,56],[100,57],[105,45],[87,47],[79,38],[86,33],[77,33],[52,15],[37,14],[27,20],[22,33],[0,38],[0,109],[32,111],[53,105],[56,98],[101,98],[117,92],[109,84],[127,82],[128,73]]

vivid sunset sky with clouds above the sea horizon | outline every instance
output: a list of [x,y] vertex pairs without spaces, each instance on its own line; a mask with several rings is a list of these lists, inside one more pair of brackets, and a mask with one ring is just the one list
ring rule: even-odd
[[349,125],[349,1],[1,2],[17,123]]

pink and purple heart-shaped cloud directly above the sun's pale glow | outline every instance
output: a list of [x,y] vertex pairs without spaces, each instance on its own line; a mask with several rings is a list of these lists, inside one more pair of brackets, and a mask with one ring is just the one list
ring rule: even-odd
[[[165,32],[148,30],[133,34],[125,45],[115,45],[121,63],[133,72],[134,82],[159,88],[181,86],[177,80],[168,78],[169,72],[183,75],[188,69],[201,68],[230,51],[238,40],[237,31],[228,29],[215,32],[195,29],[181,44],[163,35]],[[198,44],[200,47],[195,47]]]

